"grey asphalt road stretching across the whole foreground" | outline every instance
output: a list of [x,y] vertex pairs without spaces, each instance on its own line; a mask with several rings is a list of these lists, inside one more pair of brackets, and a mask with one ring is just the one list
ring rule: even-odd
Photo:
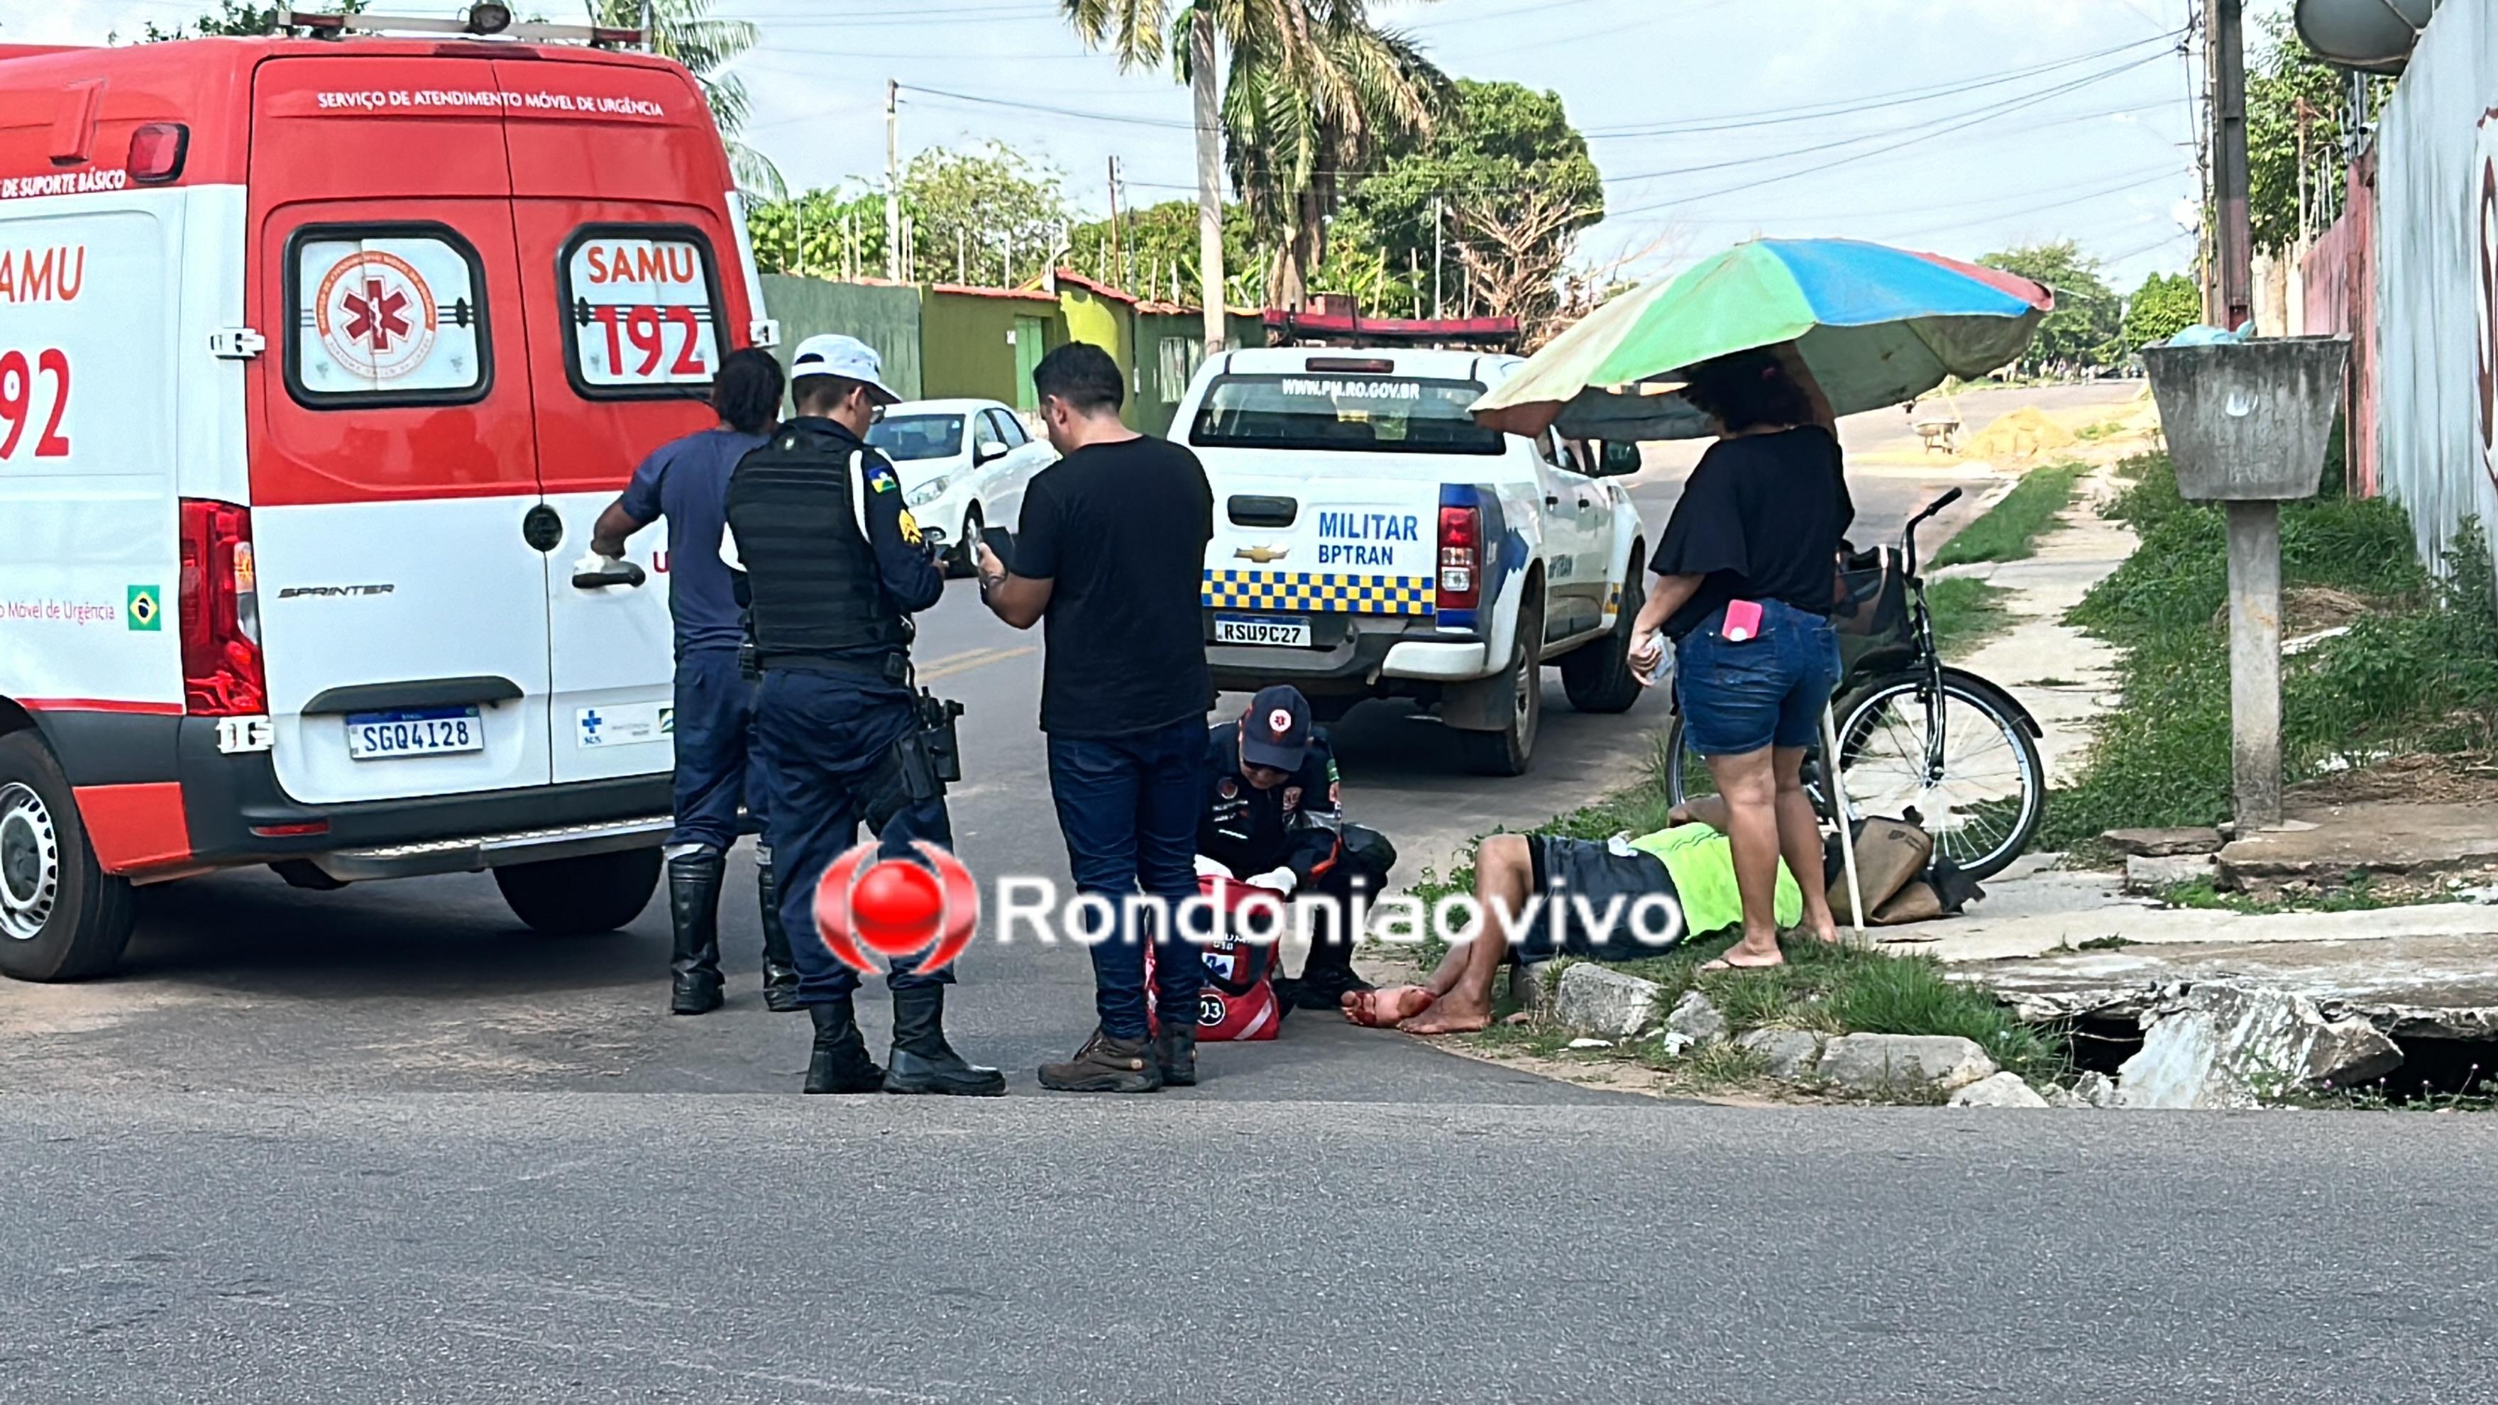
[[0,1400],[2491,1398],[2486,1120],[0,1098]]

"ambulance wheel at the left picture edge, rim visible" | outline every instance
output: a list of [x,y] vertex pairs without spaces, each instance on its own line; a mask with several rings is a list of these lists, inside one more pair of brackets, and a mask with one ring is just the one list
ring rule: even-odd
[[0,738],[0,972],[77,980],[120,965],[130,885],[95,862],[70,780],[42,738]]

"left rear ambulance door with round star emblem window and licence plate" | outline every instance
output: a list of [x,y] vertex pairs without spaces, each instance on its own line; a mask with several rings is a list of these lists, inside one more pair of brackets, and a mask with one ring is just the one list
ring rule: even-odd
[[485,60],[255,75],[252,538],[277,780],[545,785],[550,522]]

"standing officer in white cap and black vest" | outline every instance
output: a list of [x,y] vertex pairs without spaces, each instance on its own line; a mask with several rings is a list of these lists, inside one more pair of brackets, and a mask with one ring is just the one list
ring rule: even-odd
[[[789,360],[797,418],[737,462],[729,545],[744,570],[762,692],[754,740],[772,790],[764,838],[782,870],[782,922],[814,935],[814,890],[859,832],[889,858],[912,840],[952,842],[942,788],[912,765],[919,708],[912,622],[944,595],[934,542],[902,508],[902,482],[867,448],[867,428],[899,400],[877,352],[839,335],[807,338]],[[1007,1090],[944,1040],[952,970],[924,975],[894,960],[889,1068],[867,1058],[852,992],[859,975],[822,940],[802,940],[797,1002],[814,1018],[807,1092]]]

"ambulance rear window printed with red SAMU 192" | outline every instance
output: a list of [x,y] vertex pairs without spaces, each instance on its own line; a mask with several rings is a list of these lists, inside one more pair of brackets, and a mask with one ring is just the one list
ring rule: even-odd
[[719,372],[712,245],[682,225],[590,225],[565,242],[565,370],[592,400],[682,398]]

